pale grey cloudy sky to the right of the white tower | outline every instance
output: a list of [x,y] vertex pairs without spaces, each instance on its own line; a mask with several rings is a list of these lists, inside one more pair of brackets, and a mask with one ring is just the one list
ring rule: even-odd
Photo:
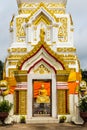
[[74,21],[74,45],[81,68],[87,69],[87,0],[68,0],[67,12],[70,12]]

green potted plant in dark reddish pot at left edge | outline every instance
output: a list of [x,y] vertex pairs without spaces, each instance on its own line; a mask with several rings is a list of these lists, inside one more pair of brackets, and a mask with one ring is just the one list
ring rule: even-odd
[[0,102],[0,120],[2,124],[4,124],[5,119],[8,117],[12,106],[13,104],[8,100],[3,100]]

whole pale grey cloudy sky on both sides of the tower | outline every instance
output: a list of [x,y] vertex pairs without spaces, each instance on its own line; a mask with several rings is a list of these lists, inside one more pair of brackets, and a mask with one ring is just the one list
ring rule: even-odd
[[[82,69],[87,69],[87,0],[67,0],[67,13],[74,22],[74,45]],[[10,46],[9,23],[17,14],[16,0],[0,0],[0,60],[5,61]]]

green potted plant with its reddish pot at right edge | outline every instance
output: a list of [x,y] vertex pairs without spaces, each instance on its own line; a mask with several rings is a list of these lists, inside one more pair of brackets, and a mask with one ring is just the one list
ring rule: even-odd
[[80,116],[86,122],[87,121],[87,95],[80,98],[79,110],[80,110]]

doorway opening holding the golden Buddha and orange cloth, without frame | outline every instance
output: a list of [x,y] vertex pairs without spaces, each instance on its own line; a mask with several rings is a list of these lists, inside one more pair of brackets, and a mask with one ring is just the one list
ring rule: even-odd
[[33,80],[33,117],[52,116],[51,80]]

